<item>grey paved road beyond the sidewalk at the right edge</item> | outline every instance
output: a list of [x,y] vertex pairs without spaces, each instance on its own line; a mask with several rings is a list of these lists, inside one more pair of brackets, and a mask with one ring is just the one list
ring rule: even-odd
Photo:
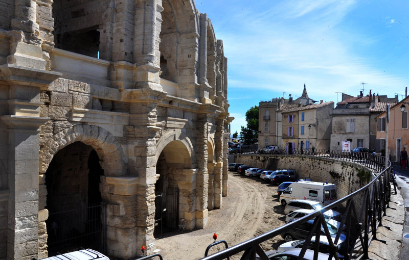
[[405,219],[403,224],[403,237],[402,247],[400,249],[399,259],[408,259],[409,255],[409,169],[400,169],[398,166],[393,166],[396,173],[396,181],[401,188],[400,194],[402,195],[405,206]]

